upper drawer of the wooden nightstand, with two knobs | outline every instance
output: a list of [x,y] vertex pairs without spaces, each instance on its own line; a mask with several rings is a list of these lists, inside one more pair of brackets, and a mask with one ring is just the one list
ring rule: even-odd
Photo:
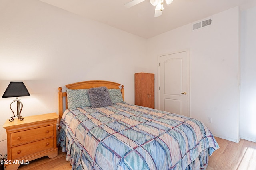
[[11,145],[18,145],[30,141],[36,141],[38,139],[44,139],[52,137],[54,134],[54,126],[39,127],[36,129],[30,129],[26,131],[20,131],[11,134]]

